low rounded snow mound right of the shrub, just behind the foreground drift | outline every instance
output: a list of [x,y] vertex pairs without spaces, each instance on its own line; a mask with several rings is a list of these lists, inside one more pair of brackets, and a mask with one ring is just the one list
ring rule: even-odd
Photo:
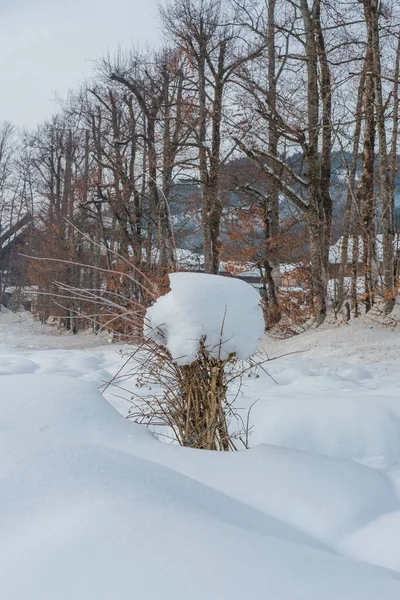
[[[325,392],[326,393],[326,392]],[[384,397],[281,397],[254,407],[252,444],[268,443],[352,460],[372,468],[400,459],[400,420]]]

